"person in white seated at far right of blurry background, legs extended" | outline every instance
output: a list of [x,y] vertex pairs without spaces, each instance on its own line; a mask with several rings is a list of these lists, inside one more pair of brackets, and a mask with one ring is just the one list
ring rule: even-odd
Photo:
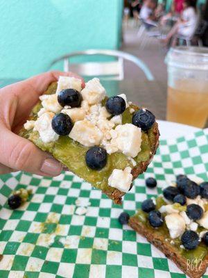
[[177,43],[177,35],[191,38],[196,31],[197,24],[196,0],[185,0],[182,16],[177,20],[173,28],[171,28],[166,38],[162,39],[162,42],[168,44],[173,39],[171,45],[175,46]]

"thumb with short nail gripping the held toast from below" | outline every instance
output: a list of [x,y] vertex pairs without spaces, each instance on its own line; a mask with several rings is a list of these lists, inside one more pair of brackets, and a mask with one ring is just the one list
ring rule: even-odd
[[42,176],[58,176],[62,165],[50,154],[42,152],[33,142],[17,136],[4,129],[1,136],[0,162],[15,170],[40,174]]

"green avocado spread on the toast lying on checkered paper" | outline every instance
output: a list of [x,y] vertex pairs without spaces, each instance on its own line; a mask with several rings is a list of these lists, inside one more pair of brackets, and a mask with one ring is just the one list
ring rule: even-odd
[[[164,199],[162,197],[157,197],[156,209],[158,210],[163,205],[166,205]],[[166,214],[162,213],[162,215],[165,216]],[[171,244],[171,247],[175,249],[176,252],[182,254],[182,256],[184,256],[186,259],[189,259],[193,263],[200,263],[200,260],[204,259],[208,255],[207,246],[202,242],[200,242],[200,244],[195,250],[185,250],[181,248],[180,245],[182,243],[180,238],[173,239],[170,237],[168,227],[166,227],[165,221],[163,222],[162,227],[155,229],[152,226],[150,226],[148,222],[148,213],[141,211],[141,209],[139,209],[133,217],[137,218],[139,222],[145,224],[146,228],[149,229],[151,233],[157,234],[158,236],[163,236],[166,239],[166,241]],[[202,227],[198,227],[198,232],[203,230],[205,229],[203,229]]]

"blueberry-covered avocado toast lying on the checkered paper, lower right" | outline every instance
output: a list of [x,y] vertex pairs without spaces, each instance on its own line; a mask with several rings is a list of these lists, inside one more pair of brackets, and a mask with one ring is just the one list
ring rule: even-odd
[[189,277],[199,278],[208,266],[208,183],[180,177],[164,196],[146,199],[128,224]]

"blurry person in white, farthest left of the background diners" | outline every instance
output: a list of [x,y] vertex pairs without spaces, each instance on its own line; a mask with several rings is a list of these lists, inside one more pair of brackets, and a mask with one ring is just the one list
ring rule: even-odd
[[140,19],[147,24],[146,27],[150,27],[150,26],[156,26],[157,22],[156,22],[156,17],[155,17],[155,8],[157,6],[157,3],[155,0],[146,0],[144,1],[140,13],[139,13],[139,17]]

